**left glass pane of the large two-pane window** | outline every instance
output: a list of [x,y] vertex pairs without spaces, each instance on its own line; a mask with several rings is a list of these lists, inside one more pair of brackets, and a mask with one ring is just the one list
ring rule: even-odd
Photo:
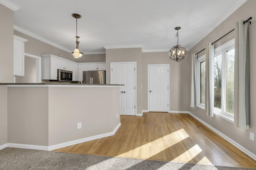
[[214,57],[214,107],[221,109],[221,65],[222,55]]

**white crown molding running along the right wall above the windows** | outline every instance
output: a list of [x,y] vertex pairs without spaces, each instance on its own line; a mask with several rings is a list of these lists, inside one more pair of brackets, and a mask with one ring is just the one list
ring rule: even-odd
[[197,43],[199,43],[206,35],[226,20],[231,14],[233,14],[240,6],[242,6],[247,0],[237,0],[229,10],[227,10],[215,23],[213,23],[198,39],[188,48],[188,51],[192,49]]

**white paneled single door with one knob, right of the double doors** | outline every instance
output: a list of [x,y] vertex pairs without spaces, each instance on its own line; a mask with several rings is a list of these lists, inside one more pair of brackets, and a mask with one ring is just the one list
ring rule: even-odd
[[148,110],[168,112],[169,65],[148,65]]

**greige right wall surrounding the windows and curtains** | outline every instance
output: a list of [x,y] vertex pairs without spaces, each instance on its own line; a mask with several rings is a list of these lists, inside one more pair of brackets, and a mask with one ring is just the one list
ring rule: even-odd
[[[190,55],[192,53],[197,53],[200,50],[205,48],[206,43],[213,42],[222,35],[228,33],[230,30],[234,28],[234,24],[236,21],[239,20],[247,20],[247,18],[252,17],[252,25],[249,25],[249,43],[250,43],[250,129],[242,130],[237,127],[234,127],[233,123],[230,123],[220,117],[207,117],[204,113],[204,110],[196,108],[189,108],[189,111],[220,131],[221,133],[225,134],[226,136],[230,137],[232,140],[236,141],[238,144],[242,145],[244,148],[250,150],[252,153],[256,154],[256,139],[254,137],[254,141],[249,139],[249,132],[253,132],[256,135],[256,1],[255,0],[248,0],[244,3],[236,12],[234,12],[230,17],[228,17],[223,23],[221,23],[218,27],[216,27],[211,33],[209,33],[202,41],[196,44],[191,50]],[[215,46],[219,46],[221,43],[225,43],[226,41],[234,38],[234,33],[222,39],[222,42],[219,42]],[[203,52],[205,53],[205,52]],[[189,75],[191,75],[191,56],[189,58]],[[190,78],[191,79],[191,78]],[[189,81],[190,82],[190,81]],[[190,94],[188,94],[189,96]]]

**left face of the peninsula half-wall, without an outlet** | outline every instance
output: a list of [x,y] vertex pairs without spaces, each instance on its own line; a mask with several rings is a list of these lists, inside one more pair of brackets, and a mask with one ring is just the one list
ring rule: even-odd
[[48,146],[48,88],[8,87],[8,143]]

